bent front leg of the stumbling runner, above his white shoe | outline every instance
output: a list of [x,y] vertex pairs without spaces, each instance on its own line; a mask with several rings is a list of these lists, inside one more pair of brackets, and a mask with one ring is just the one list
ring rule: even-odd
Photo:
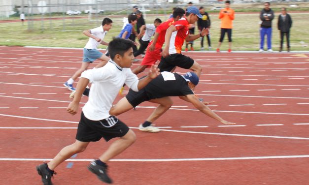
[[173,101],[170,97],[151,99],[149,101],[152,103],[160,104],[146,120],[151,123],[153,123],[158,118],[160,118],[160,116],[162,116],[166,111],[168,111],[172,107],[172,104],[173,104]]

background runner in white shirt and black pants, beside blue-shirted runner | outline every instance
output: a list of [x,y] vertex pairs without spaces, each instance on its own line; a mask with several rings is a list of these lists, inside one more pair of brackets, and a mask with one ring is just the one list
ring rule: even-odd
[[[142,54],[147,48],[151,36],[156,31],[156,28],[160,26],[162,23],[161,19],[155,19],[153,24],[147,24],[140,27],[140,32],[137,35],[137,39],[139,40],[140,46],[136,52],[134,52],[134,57]],[[141,38],[141,39],[140,39]]]

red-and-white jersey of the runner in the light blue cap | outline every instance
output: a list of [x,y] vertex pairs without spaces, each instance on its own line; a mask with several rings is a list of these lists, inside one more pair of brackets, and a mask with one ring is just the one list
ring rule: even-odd
[[176,31],[172,32],[169,53],[181,53],[181,47],[187,35],[189,34],[189,22],[183,17],[172,24]]

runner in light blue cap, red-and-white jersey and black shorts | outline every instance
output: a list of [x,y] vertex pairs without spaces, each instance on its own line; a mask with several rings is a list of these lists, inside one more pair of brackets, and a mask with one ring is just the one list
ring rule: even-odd
[[190,57],[181,54],[181,47],[184,40],[192,41],[203,37],[208,33],[207,29],[203,29],[201,33],[196,35],[189,34],[189,24],[195,24],[198,17],[202,18],[199,9],[196,6],[189,6],[185,17],[174,22],[165,34],[165,48],[162,51],[161,62],[158,68],[161,72],[172,71],[176,66],[185,69],[191,69],[198,76],[201,75],[202,67]]

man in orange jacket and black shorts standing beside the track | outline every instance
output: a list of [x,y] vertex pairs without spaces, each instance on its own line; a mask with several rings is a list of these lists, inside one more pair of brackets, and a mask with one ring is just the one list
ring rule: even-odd
[[232,28],[233,28],[233,20],[234,20],[234,10],[230,8],[230,0],[225,1],[225,8],[220,10],[219,19],[221,19],[221,36],[217,48],[217,53],[220,52],[220,46],[223,41],[225,32],[228,33],[229,38],[229,50],[228,52],[231,53],[231,46],[232,46]]

